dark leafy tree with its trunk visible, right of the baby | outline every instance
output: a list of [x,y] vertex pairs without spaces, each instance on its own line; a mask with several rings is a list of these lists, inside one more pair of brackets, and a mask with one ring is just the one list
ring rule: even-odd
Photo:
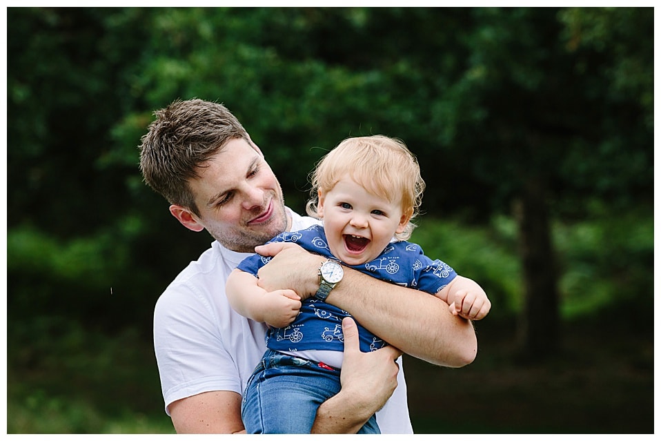
[[442,115],[457,121],[446,136],[474,158],[475,177],[493,187],[495,200],[514,204],[521,346],[535,360],[558,348],[552,210],[586,215],[575,205],[585,195],[619,206],[651,198],[653,11],[473,13],[471,63],[442,99]]

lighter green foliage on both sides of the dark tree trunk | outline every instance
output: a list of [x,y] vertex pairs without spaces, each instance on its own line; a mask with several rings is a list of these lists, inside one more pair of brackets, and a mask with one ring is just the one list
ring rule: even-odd
[[[561,317],[565,322],[619,311],[623,304],[653,302],[654,217],[649,210],[582,222],[555,222],[560,264]],[[423,217],[412,239],[426,255],[442,259],[478,282],[493,309],[487,320],[513,320],[522,308],[515,222],[496,216],[489,226]],[[639,317],[640,319],[640,317]],[[652,314],[643,322],[651,323]]]

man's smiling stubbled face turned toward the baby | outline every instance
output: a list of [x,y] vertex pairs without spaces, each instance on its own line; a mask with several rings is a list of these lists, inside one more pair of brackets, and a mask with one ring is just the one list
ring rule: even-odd
[[290,227],[277,178],[246,139],[228,141],[199,175],[189,183],[200,213],[193,217],[230,250],[253,253]]

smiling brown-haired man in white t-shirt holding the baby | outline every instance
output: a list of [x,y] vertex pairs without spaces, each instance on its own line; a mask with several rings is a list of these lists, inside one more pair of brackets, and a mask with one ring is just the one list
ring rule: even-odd
[[[216,239],[155,307],[166,412],[178,433],[240,433],[241,391],[264,352],[266,328],[230,308],[226,279],[246,253],[258,251],[275,256],[259,271],[260,285],[268,291],[292,288],[302,298],[314,295],[325,259],[295,244],[259,245],[317,221],[286,208],[262,151],[224,106],[175,101],[156,116],[140,146],[145,181],[168,199],[182,225]],[[401,351],[442,366],[464,366],[477,351],[473,326],[431,295],[348,269],[326,294],[326,302],[392,346],[361,353],[355,323],[344,322],[342,390],[319,406],[313,433],[355,433],[376,411],[382,433],[412,433],[397,364]]]

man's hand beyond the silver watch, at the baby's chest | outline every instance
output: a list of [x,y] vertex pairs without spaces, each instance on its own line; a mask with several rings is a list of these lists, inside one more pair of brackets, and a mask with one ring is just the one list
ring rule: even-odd
[[271,242],[255,247],[255,253],[273,256],[268,264],[259,268],[260,287],[266,291],[292,289],[305,300],[319,288],[319,277],[315,268],[319,268],[326,259],[320,255],[308,253],[291,242]]

